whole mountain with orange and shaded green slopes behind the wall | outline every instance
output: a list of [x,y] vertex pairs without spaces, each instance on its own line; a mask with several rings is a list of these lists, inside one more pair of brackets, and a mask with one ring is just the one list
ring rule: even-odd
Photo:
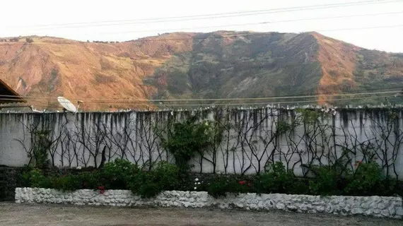
[[[317,32],[175,32],[112,43],[10,40],[0,39],[0,78],[37,108],[59,107],[59,95],[84,100],[86,109],[147,107],[128,99],[315,93],[323,104],[334,102],[326,93],[373,92],[403,81],[403,54],[363,49]],[[261,100],[272,101],[279,100]]]

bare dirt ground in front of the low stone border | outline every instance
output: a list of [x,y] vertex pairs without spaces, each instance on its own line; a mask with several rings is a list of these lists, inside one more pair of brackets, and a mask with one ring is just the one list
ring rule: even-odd
[[403,220],[185,208],[108,208],[0,203],[0,225],[403,225]]

